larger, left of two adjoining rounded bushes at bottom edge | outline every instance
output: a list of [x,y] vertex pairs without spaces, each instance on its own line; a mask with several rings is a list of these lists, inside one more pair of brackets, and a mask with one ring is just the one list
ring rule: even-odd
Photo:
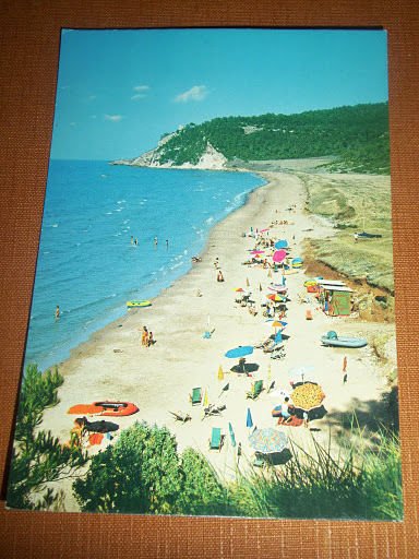
[[168,429],[134,424],[92,459],[73,488],[83,511],[180,513],[182,474]]

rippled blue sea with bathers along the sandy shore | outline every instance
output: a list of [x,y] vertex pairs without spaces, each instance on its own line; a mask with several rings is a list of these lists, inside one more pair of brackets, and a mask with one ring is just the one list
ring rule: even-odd
[[263,183],[250,173],[51,160],[24,364],[62,361],[128,300],[169,287]]

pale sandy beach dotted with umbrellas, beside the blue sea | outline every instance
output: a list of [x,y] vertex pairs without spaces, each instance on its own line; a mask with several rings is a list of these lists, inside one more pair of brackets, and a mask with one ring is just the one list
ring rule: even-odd
[[[359,411],[368,407],[369,402],[380,400],[386,384],[371,348],[326,348],[321,346],[320,336],[336,330],[342,334],[368,337],[374,329],[391,330],[394,326],[327,317],[313,299],[300,304],[298,296],[304,292],[307,280],[303,270],[287,276],[290,301],[285,319],[288,325],[284,331],[289,336],[284,342],[286,357],[273,360],[262,349],[254,349],[247,358],[248,364],[259,366],[252,378],[229,371],[237,360],[225,357],[228,349],[254,345],[273,333],[271,323],[262,316],[260,301],[266,301],[268,284],[280,277],[279,273],[268,277],[268,271],[262,266],[242,264],[255,242],[243,233],[250,231],[251,227],[263,229],[286,219],[287,225],[271,227],[268,236],[288,239],[294,258],[302,255],[303,239],[333,235],[327,223],[304,212],[306,191],[298,176],[285,173],[260,175],[267,183],[252,192],[244,206],[215,226],[201,254],[202,262],[194,264],[185,276],[154,299],[152,307],[127,311],[123,318],[94,334],[60,364],[59,370],[64,377],[64,384],[59,390],[60,402],[46,409],[43,428],[51,430],[64,442],[75,417],[67,414],[70,406],[104,400],[133,402],[140,408],[137,414],[112,419],[120,430],[142,420],[165,425],[176,435],[180,451],[187,447],[199,449],[228,480],[235,477],[237,468],[237,449],[230,443],[229,423],[237,442],[242,444],[240,467],[246,467],[253,455],[246,426],[248,408],[255,426],[277,427],[298,444],[304,448],[311,444],[309,429],[277,426],[277,420],[271,416],[272,408],[282,402],[280,390],[289,392],[289,381],[301,380],[292,370],[308,368],[307,379],[319,382],[326,395],[327,414],[313,421],[313,427],[319,429],[314,436],[320,442],[327,442],[330,429],[336,429],[342,412]],[[295,210],[288,211],[294,204]],[[223,283],[216,281],[216,258],[225,277]],[[256,316],[235,302],[239,287],[252,292]],[[201,297],[197,290],[201,290]],[[311,321],[306,320],[307,309],[312,311]],[[156,344],[148,348],[141,344],[143,325],[156,340]],[[213,331],[211,338],[203,337],[206,330]],[[345,356],[348,382],[344,385]],[[220,366],[224,380],[218,380]],[[275,389],[270,393],[265,390],[256,401],[248,400],[246,393],[256,379],[263,379],[265,386],[268,381],[275,381]],[[227,383],[229,389],[223,391]],[[194,386],[206,390],[211,403],[226,406],[222,416],[202,418],[202,406],[192,406],[189,401]],[[170,412],[178,411],[189,413],[192,420],[175,421]],[[208,450],[212,427],[220,427],[226,435],[220,452]],[[104,447],[105,442],[100,448]],[[100,448],[94,447],[91,452]],[[69,497],[65,508],[73,510],[73,507],[75,504]]]

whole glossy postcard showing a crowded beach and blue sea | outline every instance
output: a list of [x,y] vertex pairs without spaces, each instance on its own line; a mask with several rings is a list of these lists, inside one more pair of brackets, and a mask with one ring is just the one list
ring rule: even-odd
[[386,33],[62,29],[10,509],[403,520]]

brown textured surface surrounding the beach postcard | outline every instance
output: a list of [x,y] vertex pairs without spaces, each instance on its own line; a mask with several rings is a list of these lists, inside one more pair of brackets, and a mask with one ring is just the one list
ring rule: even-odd
[[[52,129],[60,27],[383,26],[388,31],[403,523],[11,512],[0,557],[419,557],[419,9],[412,0],[7,0],[0,3],[0,472],[19,389]],[[139,62],[141,63],[141,62]]]

